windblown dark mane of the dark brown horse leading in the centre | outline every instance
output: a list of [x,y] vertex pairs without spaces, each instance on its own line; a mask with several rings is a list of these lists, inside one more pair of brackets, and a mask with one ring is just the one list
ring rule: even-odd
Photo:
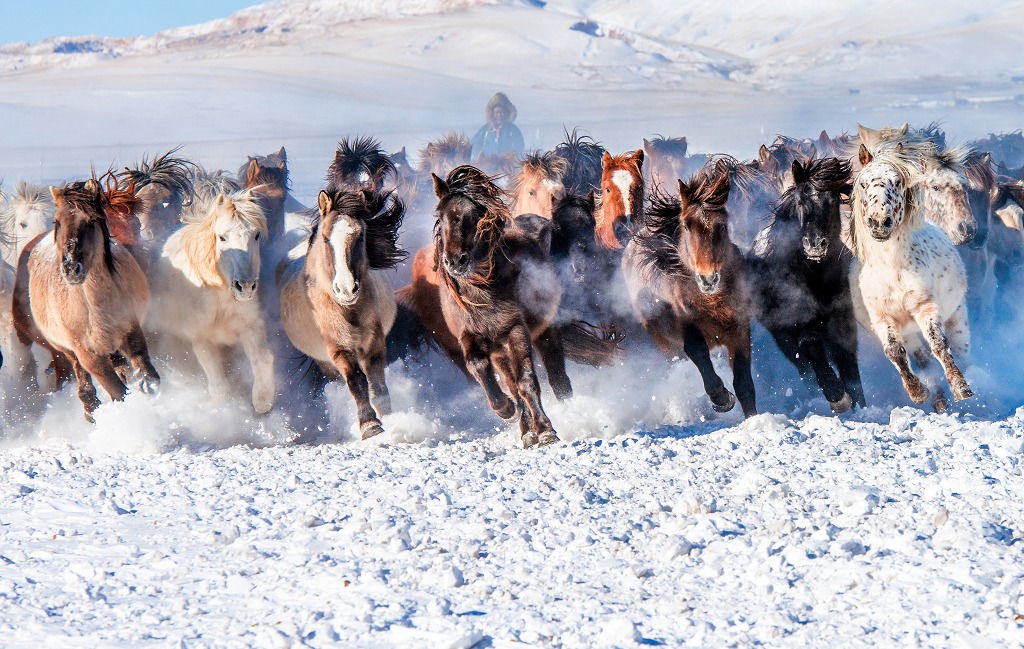
[[512,213],[505,204],[507,192],[495,184],[495,177],[488,176],[472,165],[461,165],[452,170],[445,179],[447,193],[437,204],[438,219],[434,223],[434,268],[438,270],[444,285],[451,291],[456,304],[463,310],[466,305],[482,306],[466,300],[459,292],[459,286],[455,278],[444,270],[441,260],[440,246],[440,218],[441,206],[455,198],[465,199],[481,210],[483,216],[476,221],[476,236],[488,243],[488,263],[483,272],[475,272],[468,277],[463,277],[462,283],[473,286],[477,289],[487,290],[490,288],[492,273],[494,271],[494,256],[501,245],[502,233],[512,222]]

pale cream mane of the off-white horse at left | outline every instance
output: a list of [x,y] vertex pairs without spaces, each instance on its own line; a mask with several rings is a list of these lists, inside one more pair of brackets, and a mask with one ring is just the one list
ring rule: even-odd
[[253,196],[252,188],[236,189],[230,192],[219,189],[220,185],[209,183],[200,185],[196,199],[181,215],[183,225],[178,230],[181,236],[181,248],[188,262],[187,273],[190,278],[199,280],[202,286],[216,289],[223,288],[224,278],[217,269],[217,236],[213,225],[219,212],[215,209],[220,197],[231,210],[233,218],[240,219],[250,227],[266,235],[266,217],[259,206],[259,201]]

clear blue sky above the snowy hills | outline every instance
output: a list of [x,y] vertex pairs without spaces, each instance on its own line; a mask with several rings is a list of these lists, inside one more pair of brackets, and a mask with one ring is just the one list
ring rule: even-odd
[[224,17],[259,0],[5,0],[0,43],[54,36],[139,36]]

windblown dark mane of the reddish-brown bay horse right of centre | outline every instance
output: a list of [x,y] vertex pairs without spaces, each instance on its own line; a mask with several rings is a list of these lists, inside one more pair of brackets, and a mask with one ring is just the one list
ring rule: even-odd
[[[698,171],[689,180],[680,180],[689,192],[686,209],[724,213],[729,192],[728,185],[723,187],[722,176],[729,172],[728,164],[719,160],[715,165]],[[689,268],[679,255],[682,218],[683,205],[679,197],[665,193],[650,197],[643,216],[643,227],[633,237],[639,252],[640,268],[648,279],[657,272],[668,275],[689,274]]]

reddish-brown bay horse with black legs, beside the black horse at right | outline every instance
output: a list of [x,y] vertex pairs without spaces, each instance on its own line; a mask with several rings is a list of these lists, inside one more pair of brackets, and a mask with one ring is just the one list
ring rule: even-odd
[[[633,311],[658,349],[685,354],[720,413],[739,399],[757,414],[751,376],[751,318],[743,258],[729,241],[729,168],[719,162],[679,181],[679,201],[656,194],[627,245],[623,269]],[[724,345],[735,396],[715,372],[710,351]]]

